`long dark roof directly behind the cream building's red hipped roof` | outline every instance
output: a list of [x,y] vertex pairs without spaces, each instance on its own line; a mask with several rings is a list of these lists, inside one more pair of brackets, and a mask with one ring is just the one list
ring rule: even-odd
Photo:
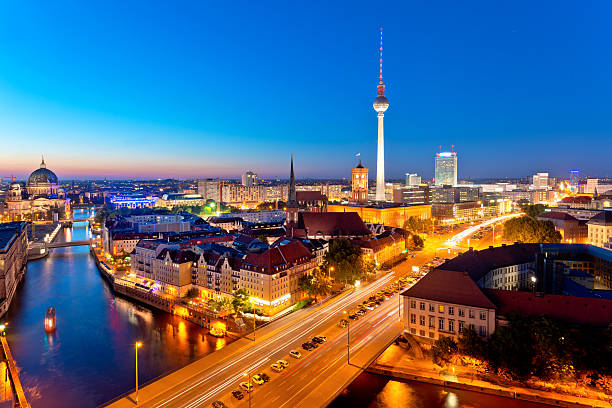
[[469,250],[440,265],[440,269],[467,272],[475,282],[492,269],[518,265],[535,259],[539,244],[514,244],[501,247]]

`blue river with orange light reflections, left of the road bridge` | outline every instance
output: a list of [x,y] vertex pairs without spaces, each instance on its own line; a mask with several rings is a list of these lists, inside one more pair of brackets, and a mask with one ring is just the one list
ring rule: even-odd
[[[77,213],[84,218],[86,213]],[[59,240],[86,239],[75,223]],[[57,330],[46,334],[54,306]],[[134,343],[141,382],[225,345],[179,317],[115,297],[86,246],[58,248],[30,262],[5,317],[21,382],[34,407],[95,407],[134,388]]]

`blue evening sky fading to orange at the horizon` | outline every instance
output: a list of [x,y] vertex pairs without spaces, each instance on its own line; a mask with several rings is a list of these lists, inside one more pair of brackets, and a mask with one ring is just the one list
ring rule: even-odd
[[612,2],[0,0],[0,176],[612,173]]

